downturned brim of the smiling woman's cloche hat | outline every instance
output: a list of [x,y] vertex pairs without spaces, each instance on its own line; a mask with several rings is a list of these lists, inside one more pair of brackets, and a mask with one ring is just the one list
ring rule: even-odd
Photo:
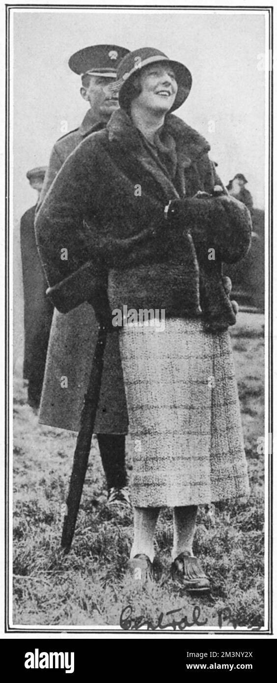
[[180,61],[173,61],[173,59],[168,59],[167,57],[162,57],[161,55],[155,55],[141,61],[139,68],[133,68],[129,74],[127,74],[127,76],[125,75],[123,79],[113,83],[113,88],[115,89],[117,87],[119,91],[119,104],[123,104],[123,100],[128,92],[128,87],[130,83],[132,83],[132,79],[134,78],[135,74],[139,74],[141,70],[144,67],[149,66],[149,64],[157,64],[158,62],[163,63],[164,61],[166,61],[166,64],[170,64],[170,66],[173,68],[178,86],[177,95],[170,111],[179,109],[181,104],[184,104],[188,95],[190,94],[190,89],[192,87],[192,74],[190,73],[190,70],[184,66],[184,64],[181,64]]

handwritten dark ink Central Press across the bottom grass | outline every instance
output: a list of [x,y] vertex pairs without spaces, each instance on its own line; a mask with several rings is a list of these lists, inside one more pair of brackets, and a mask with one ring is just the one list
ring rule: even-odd
[[[134,617],[133,608],[130,604],[128,604],[127,607],[124,607],[121,612],[119,626],[125,631],[139,630],[139,628],[143,628],[143,626],[146,626],[146,629],[151,631],[155,631],[157,628],[160,628],[160,630],[163,630],[164,628],[173,628],[174,631],[176,629],[183,631],[185,628],[191,628],[192,626],[205,626],[205,624],[207,624],[207,619],[200,621],[201,607],[199,607],[199,605],[196,605],[192,611],[192,621],[189,621],[187,615],[182,616],[179,620],[175,619],[175,617],[172,615],[181,612],[182,609],[182,607],[179,607],[179,609],[171,609],[166,613],[161,612],[158,617],[158,621],[156,624],[154,624],[154,622],[151,620],[145,619],[143,615]],[[171,617],[171,620],[166,621],[165,623],[165,617]],[[227,624],[224,624],[224,622],[227,622]],[[222,628],[222,626],[233,626],[233,628],[237,628],[237,621],[232,617],[229,607],[224,607],[224,609],[220,609],[218,611],[218,626],[220,628]],[[247,628],[250,628],[251,630],[260,629],[259,626],[249,626]]]

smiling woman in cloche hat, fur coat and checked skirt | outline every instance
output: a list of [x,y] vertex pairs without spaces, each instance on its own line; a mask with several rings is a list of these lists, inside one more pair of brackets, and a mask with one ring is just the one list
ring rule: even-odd
[[[222,261],[248,251],[250,216],[216,176],[207,141],[171,114],[190,92],[188,69],[141,48],[117,75],[120,109],[63,165],[38,215],[38,245],[51,285],[91,260],[87,300],[119,333],[133,443],[130,568],[151,576],[169,505],[172,575],[207,591],[192,553],[197,505],[248,493]],[[113,328],[123,305],[165,311],[164,331],[147,320]]]

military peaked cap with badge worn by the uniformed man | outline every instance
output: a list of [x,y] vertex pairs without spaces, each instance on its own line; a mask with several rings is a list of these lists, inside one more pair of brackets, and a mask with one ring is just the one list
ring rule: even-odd
[[116,76],[121,59],[129,50],[119,45],[91,45],[75,52],[68,66],[75,74],[91,76]]

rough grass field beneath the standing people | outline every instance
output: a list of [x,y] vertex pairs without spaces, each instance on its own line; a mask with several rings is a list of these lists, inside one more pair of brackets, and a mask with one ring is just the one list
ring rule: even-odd
[[[59,549],[64,503],[76,434],[38,424],[27,405],[20,363],[14,388],[14,623],[55,626],[119,625],[121,611],[143,615],[156,625],[187,617],[212,630],[222,626],[263,626],[263,316],[240,313],[231,330],[242,407],[250,499],[199,508],[194,554],[212,577],[212,596],[191,598],[169,579],[172,514],[162,510],[156,533],[156,581],[141,587],[126,574],[132,542],[132,513],[106,505],[100,456],[93,440],[89,469],[72,550]],[[128,466],[131,464],[128,458]],[[192,617],[194,610],[194,617]],[[223,612],[220,612],[222,611]],[[137,622],[139,624],[139,622]],[[185,626],[184,626],[185,624]],[[126,623],[134,627],[134,622]],[[182,628],[190,628],[183,622]]]

